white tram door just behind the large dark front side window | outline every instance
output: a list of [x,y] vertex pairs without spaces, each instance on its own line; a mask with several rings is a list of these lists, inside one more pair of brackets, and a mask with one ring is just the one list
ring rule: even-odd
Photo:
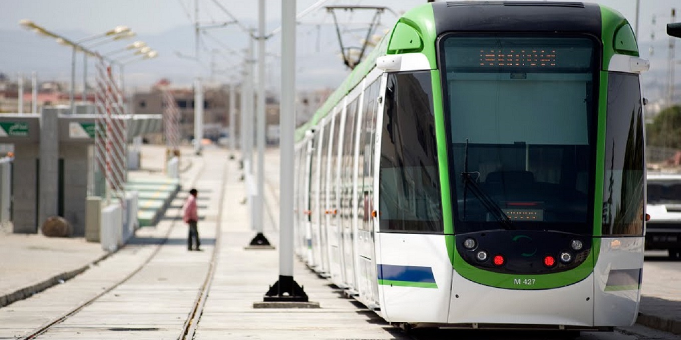
[[357,216],[358,216],[358,288],[360,301],[369,307],[379,306],[377,283],[377,260],[375,252],[375,222],[371,216],[374,209],[374,155],[376,138],[376,118],[381,79],[366,85],[362,97],[362,111],[358,114],[358,176],[357,176]]

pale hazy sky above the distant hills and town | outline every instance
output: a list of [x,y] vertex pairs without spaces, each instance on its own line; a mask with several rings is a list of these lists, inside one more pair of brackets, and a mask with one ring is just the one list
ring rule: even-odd
[[[333,84],[342,80],[343,75],[347,74],[347,69],[340,59],[340,47],[332,25],[332,16],[323,6],[379,5],[387,6],[392,12],[399,14],[424,2],[426,1],[298,0],[296,2],[298,13],[313,5],[319,7],[301,18],[301,24],[298,26],[297,69],[302,78],[300,84],[306,88],[332,87]],[[601,3],[618,10],[635,25],[636,0],[591,2]],[[193,21],[196,3],[199,6],[199,21],[204,27],[234,20],[239,22],[239,24],[227,24],[222,28],[204,29],[201,38],[200,59],[202,63],[200,65],[189,60],[195,55]],[[69,79],[71,54],[68,48],[59,46],[56,42],[39,37],[19,26],[20,20],[29,19],[50,31],[74,40],[125,25],[137,33],[133,40],[157,41],[159,58],[143,63],[131,63],[125,67],[125,78],[131,86],[144,87],[144,84],[163,76],[167,76],[176,84],[191,84],[191,79],[197,74],[202,77],[208,77],[210,74],[213,80],[219,78],[217,74],[223,74],[225,75],[223,79],[234,81],[234,78],[240,74],[240,65],[244,58],[242,53],[248,45],[242,27],[257,28],[257,4],[258,1],[255,0],[2,0],[0,2],[0,35],[8,31],[23,31],[24,33],[17,33],[22,34],[20,39],[11,41],[11,44],[0,45],[0,72],[10,75],[18,71],[30,73],[32,65],[42,65],[41,62],[49,56],[54,59],[54,63],[50,63],[50,65],[53,64],[52,67],[35,66],[33,71],[38,69],[44,74],[44,78]],[[265,4],[266,32],[270,33],[279,27],[281,22],[281,1],[265,0]],[[671,7],[674,6],[680,7],[681,10],[679,0],[641,1],[638,24],[639,41],[652,39],[652,41],[666,43],[668,38],[665,34],[665,24],[671,20]],[[351,44],[349,41],[355,41],[355,45],[360,44],[358,41],[364,36],[366,22],[370,22],[373,12],[365,10],[336,12],[336,14],[343,24],[341,28],[345,44]],[[655,24],[652,23],[653,16],[656,17]],[[377,33],[387,29],[394,20],[396,16],[392,13],[383,14],[381,27]],[[677,16],[677,21],[681,21],[681,13]],[[364,23],[350,24],[350,22]],[[651,37],[651,33],[654,33],[654,38]],[[129,42],[131,41],[120,42],[117,46],[120,48]],[[12,44],[19,44],[20,48],[16,49],[11,46]],[[114,48],[114,44],[111,45],[111,48]],[[681,42],[678,45],[681,45]],[[22,46],[24,48],[21,48]],[[25,46],[38,46],[45,51],[54,52],[46,52],[48,56],[27,55],[14,59],[7,58],[7,54],[17,54],[19,51],[27,54],[40,54],[29,52],[31,50]],[[155,46],[151,47],[155,48]],[[270,55],[266,63],[268,79],[278,81],[279,59],[276,56],[281,54],[281,40],[277,35],[268,39],[266,50]],[[642,57],[646,58],[648,53],[648,50],[642,50]],[[666,56],[667,51],[656,51],[656,55]],[[677,58],[681,58],[681,53],[677,53]],[[82,62],[78,61],[78,63]],[[657,66],[653,65],[653,67]],[[681,65],[677,68],[681,68]]]

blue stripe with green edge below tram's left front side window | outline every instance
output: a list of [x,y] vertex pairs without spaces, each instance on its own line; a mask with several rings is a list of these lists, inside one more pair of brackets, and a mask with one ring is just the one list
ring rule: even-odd
[[387,286],[405,286],[420,288],[437,288],[435,277],[430,267],[378,265],[379,284]]

